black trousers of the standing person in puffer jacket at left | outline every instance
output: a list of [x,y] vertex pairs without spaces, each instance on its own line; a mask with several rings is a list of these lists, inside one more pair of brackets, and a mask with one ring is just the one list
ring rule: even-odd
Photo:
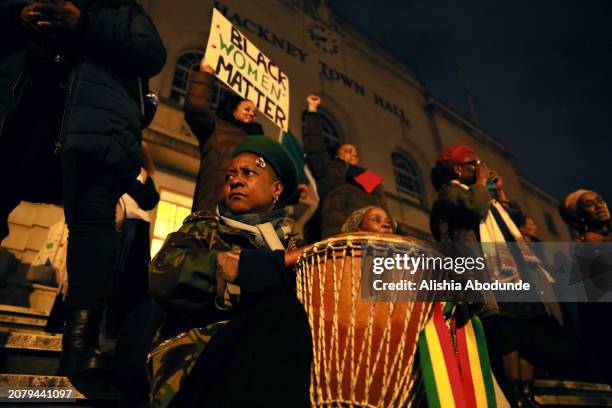
[[102,307],[107,299],[117,233],[118,177],[75,153],[54,154],[63,100],[29,91],[1,136],[0,225],[24,201],[64,205],[68,224],[67,307]]

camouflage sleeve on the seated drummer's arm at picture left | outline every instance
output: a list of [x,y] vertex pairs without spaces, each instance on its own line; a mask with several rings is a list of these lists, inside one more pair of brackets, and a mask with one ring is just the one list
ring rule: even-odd
[[168,236],[149,265],[151,294],[162,304],[195,300],[209,303],[217,288],[216,229],[210,220],[187,218]]

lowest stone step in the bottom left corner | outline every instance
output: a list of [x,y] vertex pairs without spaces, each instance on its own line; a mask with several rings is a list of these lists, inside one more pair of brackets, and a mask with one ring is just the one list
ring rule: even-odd
[[[67,377],[51,375],[20,375],[0,374],[0,389],[30,389],[30,388],[62,388],[72,390],[71,395],[75,402],[54,402],[47,406],[96,406],[116,407],[119,403],[119,394],[115,387],[101,380],[71,381]],[[24,401],[25,402],[25,401]],[[1,403],[0,403],[1,404]],[[36,406],[40,404],[37,403]],[[22,404],[16,406],[23,406]]]

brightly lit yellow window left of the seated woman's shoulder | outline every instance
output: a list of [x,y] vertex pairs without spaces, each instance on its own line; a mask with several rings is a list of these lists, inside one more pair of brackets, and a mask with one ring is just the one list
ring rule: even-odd
[[160,193],[157,216],[153,227],[151,256],[155,256],[164,240],[171,232],[183,225],[183,221],[191,214],[192,200],[188,196],[162,190]]

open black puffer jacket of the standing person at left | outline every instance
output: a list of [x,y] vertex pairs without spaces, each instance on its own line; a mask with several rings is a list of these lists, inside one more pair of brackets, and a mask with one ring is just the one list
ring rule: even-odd
[[[58,141],[62,152],[76,152],[110,166],[127,188],[142,166],[143,85],[161,71],[166,50],[155,25],[136,2],[89,3],[92,6],[81,9],[76,32],[71,33],[72,64]],[[31,81],[26,48],[37,34],[21,24],[20,12],[26,5],[0,6],[4,39],[0,44],[0,141]]]

